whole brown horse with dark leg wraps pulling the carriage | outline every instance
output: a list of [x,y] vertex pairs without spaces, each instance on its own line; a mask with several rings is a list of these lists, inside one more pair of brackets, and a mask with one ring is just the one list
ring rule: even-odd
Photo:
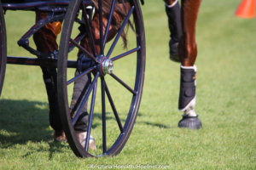
[[[170,59],[181,63],[181,78],[180,78],[180,93],[178,99],[178,109],[183,111],[183,118],[178,122],[178,127],[188,127],[191,129],[198,129],[201,127],[201,121],[195,113],[195,77],[196,66],[195,59],[197,54],[196,42],[195,42],[195,26],[197,20],[197,14],[200,8],[201,0],[182,0],[181,8],[179,8],[178,0],[164,0],[166,3],[166,14],[169,21],[169,29],[171,31],[170,46]],[[92,0],[95,4],[96,10],[98,10],[98,1]],[[102,20],[103,20],[103,32],[106,31],[108,22],[108,11],[111,7],[112,0],[102,1]],[[107,42],[112,40],[116,33],[119,31],[119,26],[122,20],[125,18],[129,9],[130,3],[125,3],[125,0],[119,0],[114,8],[113,20],[109,26],[109,33]],[[45,14],[37,14],[37,20],[44,18]],[[96,54],[100,54],[100,16],[99,13],[95,13],[93,16],[92,31],[95,41]],[[132,25],[130,24],[132,28]],[[44,26],[34,35],[34,41],[39,51],[44,53],[53,52],[57,49],[56,44],[55,23],[49,23]],[[123,31],[122,35],[124,47],[126,46],[126,35]],[[47,39],[44,37],[48,37]],[[94,53],[90,47],[90,37],[84,37],[80,42],[81,46],[86,48],[91,54]],[[44,44],[42,46],[42,44]],[[80,53],[80,52],[79,52]],[[79,55],[79,54],[78,54]],[[56,91],[55,68],[42,68],[44,74],[44,82],[47,88],[49,96],[49,109],[50,109],[50,125],[55,129],[54,138],[56,140],[65,140],[65,133],[61,127],[61,119],[59,116],[58,107],[55,105],[58,102]],[[78,72],[76,72],[78,74]],[[52,81],[48,81],[52,80]],[[84,84],[90,83],[90,75],[79,79],[74,84],[73,101],[71,107],[76,105],[76,101],[79,98],[79,94],[84,90]],[[87,111],[87,105],[84,105],[84,113]],[[78,130],[86,130],[86,116],[82,114],[81,123],[84,126],[79,127]]]

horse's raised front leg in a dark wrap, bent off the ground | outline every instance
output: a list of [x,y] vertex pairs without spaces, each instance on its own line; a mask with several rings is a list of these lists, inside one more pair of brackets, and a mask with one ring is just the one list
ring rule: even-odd
[[166,14],[168,17],[168,26],[171,32],[171,39],[169,41],[170,59],[176,62],[180,62],[180,59],[178,57],[178,42],[182,37],[180,7],[178,4],[178,0],[165,0],[165,2]]

